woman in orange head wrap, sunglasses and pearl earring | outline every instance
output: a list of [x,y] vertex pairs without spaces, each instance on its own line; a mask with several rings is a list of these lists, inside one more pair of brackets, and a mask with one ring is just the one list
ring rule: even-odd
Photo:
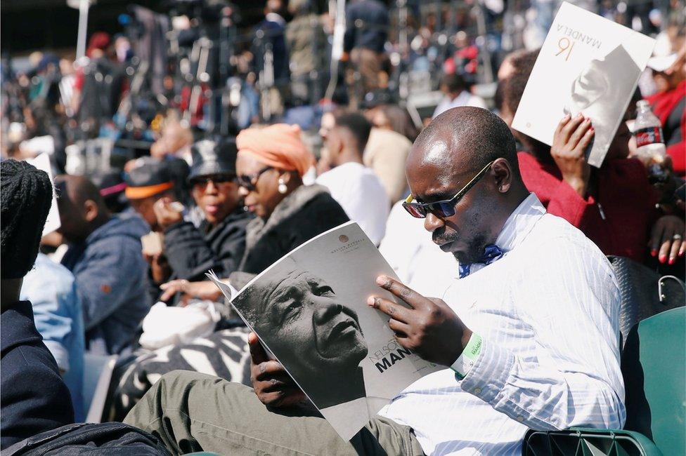
[[[300,244],[347,222],[348,216],[321,185],[303,185],[314,157],[300,128],[278,123],[242,130],[236,138],[239,193],[257,215],[247,226],[239,271],[259,274]],[[240,288],[250,276],[231,275]]]

